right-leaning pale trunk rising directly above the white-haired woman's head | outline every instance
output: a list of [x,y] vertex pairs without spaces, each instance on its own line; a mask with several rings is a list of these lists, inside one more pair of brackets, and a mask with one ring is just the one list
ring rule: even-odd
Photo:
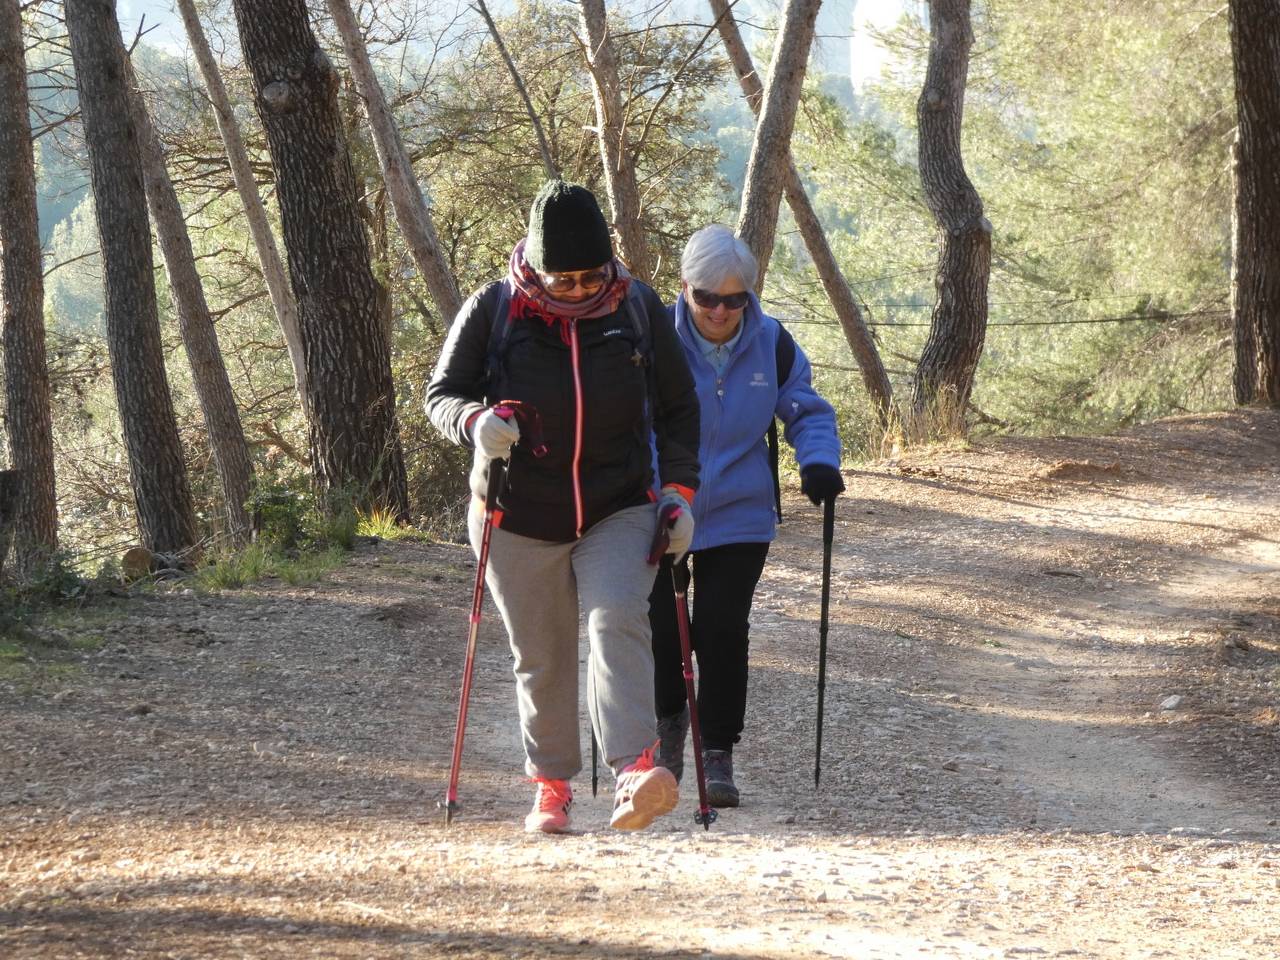
[[764,274],[773,256],[778,204],[782,201],[791,156],[791,131],[795,129],[796,110],[800,108],[819,6],[822,0],[787,0],[778,40],[773,45],[769,84],[764,88],[751,156],[746,161],[737,236],[751,248],[760,265],[760,275],[755,282],[756,293],[764,289]]

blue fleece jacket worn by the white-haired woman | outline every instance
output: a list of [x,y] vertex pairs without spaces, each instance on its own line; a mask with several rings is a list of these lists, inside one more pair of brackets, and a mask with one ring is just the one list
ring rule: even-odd
[[777,379],[778,321],[750,294],[742,311],[742,335],[721,374],[694,335],[694,317],[680,297],[667,307],[698,387],[701,407],[701,485],[694,498],[694,550],[730,543],[763,543],[776,534],[773,471],[764,436],[776,415],[782,435],[804,468],[840,466],[836,413],[813,389],[809,358],[796,344],[795,362],[782,384]]

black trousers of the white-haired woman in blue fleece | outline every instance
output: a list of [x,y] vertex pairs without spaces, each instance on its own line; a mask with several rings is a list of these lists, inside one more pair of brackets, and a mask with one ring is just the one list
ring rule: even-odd
[[[732,750],[746,718],[746,648],[751,598],[769,553],[767,543],[735,543],[689,554],[694,612],[690,639],[698,657],[698,721],[704,750]],[[671,558],[649,595],[654,694],[659,717],[685,705]]]

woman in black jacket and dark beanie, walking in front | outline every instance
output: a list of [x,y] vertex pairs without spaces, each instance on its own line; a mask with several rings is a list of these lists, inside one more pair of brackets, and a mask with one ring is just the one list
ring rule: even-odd
[[[539,411],[547,456],[534,457],[517,424],[492,408],[508,399]],[[516,659],[525,769],[538,785],[525,828],[568,827],[570,780],[582,765],[580,612],[588,709],[617,777],[612,824],[646,827],[676,805],[675,777],[653,760],[648,596],[657,567],[646,553],[666,503],[682,508],[671,552],[692,538],[698,397],[662,301],[613,256],[586,188],[552,180],[538,193],[507,278],[474,293],[453,321],[426,412],[449,439],[476,448],[476,549],[489,463],[509,457],[486,582]]]

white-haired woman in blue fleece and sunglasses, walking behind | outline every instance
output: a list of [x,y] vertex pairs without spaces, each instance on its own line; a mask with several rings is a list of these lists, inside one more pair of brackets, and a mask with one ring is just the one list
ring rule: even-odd
[[[777,522],[764,443],[772,419],[782,420],[800,465],[800,489],[815,504],[844,492],[845,484],[836,415],[814,392],[809,360],[799,346],[790,371],[776,383],[777,342],[786,333],[751,293],[758,275],[751,251],[728,228],[705,227],[690,237],[680,275],[680,297],[668,310],[701,407],[701,486],[692,503],[689,552],[698,719],[708,800],[713,806],[737,806],[733,745],[746,716],[751,599]],[[689,707],[669,576],[657,580],[649,620],[662,737],[658,762],[678,780]]]

